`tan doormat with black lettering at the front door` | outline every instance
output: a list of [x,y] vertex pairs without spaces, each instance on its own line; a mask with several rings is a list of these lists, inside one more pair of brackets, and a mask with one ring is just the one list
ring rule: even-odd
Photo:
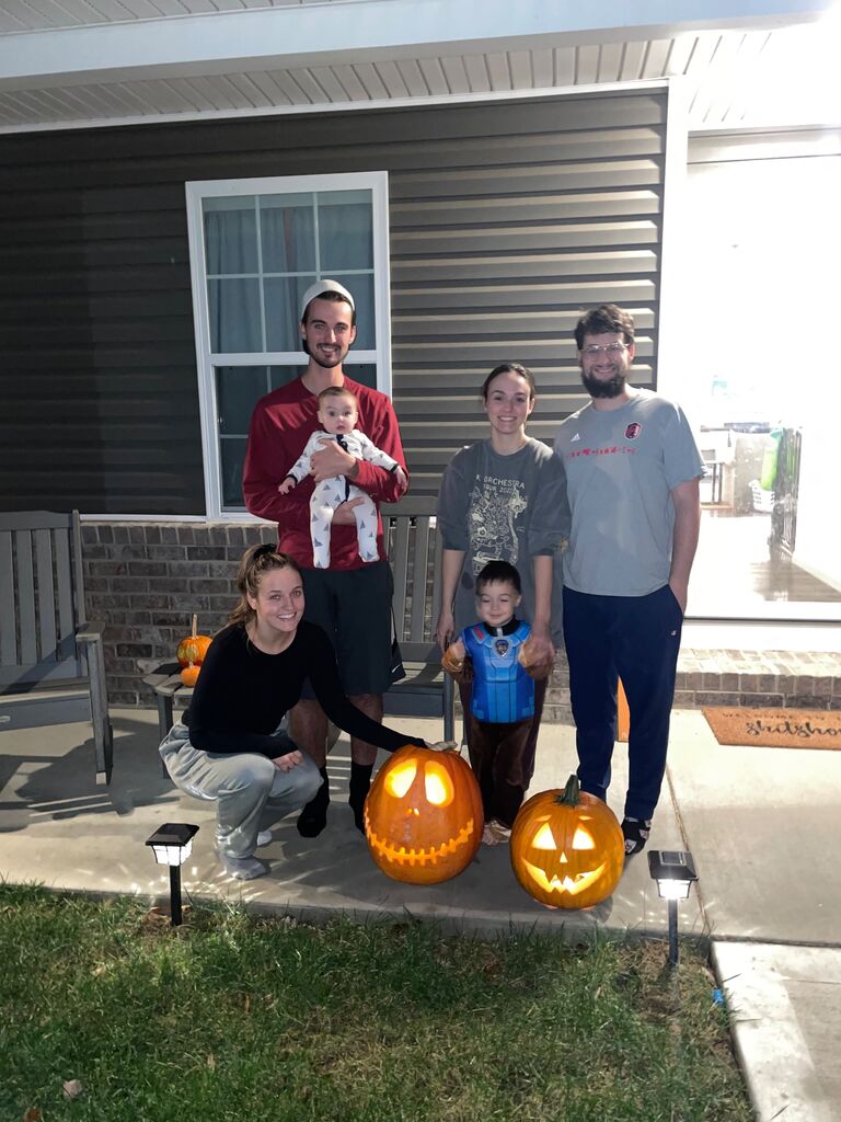
[[763,748],[841,748],[841,712],[833,709],[701,710],[719,744]]

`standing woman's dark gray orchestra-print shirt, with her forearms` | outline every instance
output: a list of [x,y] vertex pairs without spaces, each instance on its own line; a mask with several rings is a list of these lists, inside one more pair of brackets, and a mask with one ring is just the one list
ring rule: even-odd
[[563,466],[552,449],[528,438],[511,456],[499,456],[489,440],[456,452],[438,495],[438,531],[444,549],[463,551],[453,614],[456,632],[475,623],[475,578],[489,561],[508,561],[523,583],[521,619],[534,619],[533,558],[554,558],[552,637],[561,642],[562,572],[560,546],[570,531]]

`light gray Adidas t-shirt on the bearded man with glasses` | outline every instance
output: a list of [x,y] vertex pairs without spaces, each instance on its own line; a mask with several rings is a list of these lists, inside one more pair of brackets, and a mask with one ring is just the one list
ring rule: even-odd
[[671,491],[704,473],[683,411],[649,389],[618,410],[592,404],[561,425],[555,452],[572,508],[564,583],[597,596],[647,596],[668,581]]

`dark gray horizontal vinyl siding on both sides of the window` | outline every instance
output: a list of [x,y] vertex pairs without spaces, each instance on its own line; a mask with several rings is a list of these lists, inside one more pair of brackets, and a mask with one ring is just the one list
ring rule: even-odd
[[665,91],[0,138],[0,508],[202,514],[184,183],[389,173],[394,398],[413,493],[486,432],[498,362],[533,435],[584,402],[611,300],[654,385]]

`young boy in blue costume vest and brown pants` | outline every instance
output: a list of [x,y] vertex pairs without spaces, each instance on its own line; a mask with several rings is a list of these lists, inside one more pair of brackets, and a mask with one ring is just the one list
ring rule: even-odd
[[535,712],[534,679],[552,665],[529,663],[532,625],[517,619],[520,574],[507,561],[490,561],[475,580],[480,623],[465,627],[444,654],[456,681],[470,680],[468,752],[484,807],[486,845],[506,842],[523,804],[527,778],[523,753]]

